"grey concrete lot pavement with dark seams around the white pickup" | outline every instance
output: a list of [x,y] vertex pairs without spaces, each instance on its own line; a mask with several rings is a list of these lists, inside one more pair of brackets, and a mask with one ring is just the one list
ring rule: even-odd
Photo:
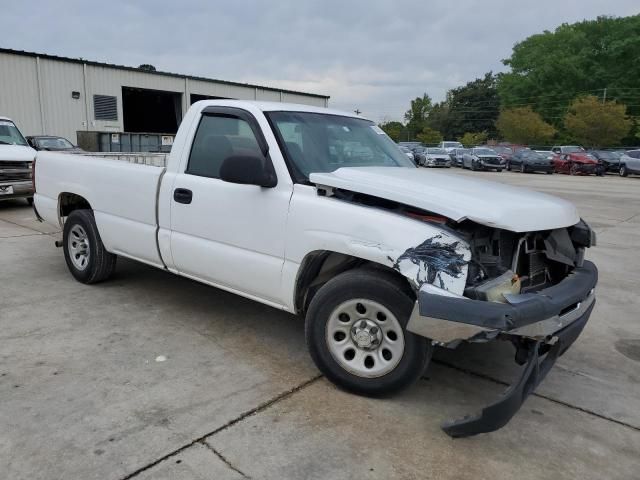
[[640,178],[452,170],[564,197],[598,233],[583,335],[502,430],[440,423],[500,394],[508,345],[436,353],[388,399],[322,378],[303,323],[119,260],[73,280],[54,229],[0,203],[0,472],[7,479],[635,479],[640,476]]

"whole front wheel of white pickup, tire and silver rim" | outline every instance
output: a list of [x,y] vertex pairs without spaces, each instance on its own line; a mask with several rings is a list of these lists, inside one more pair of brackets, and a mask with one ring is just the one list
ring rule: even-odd
[[394,276],[351,270],[313,297],[307,347],[329,380],[361,395],[408,387],[424,372],[431,342],[406,330],[414,300]]

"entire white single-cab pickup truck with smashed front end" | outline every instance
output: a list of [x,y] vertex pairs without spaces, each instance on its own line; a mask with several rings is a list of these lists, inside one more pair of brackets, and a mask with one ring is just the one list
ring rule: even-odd
[[122,256],[300,315],[350,391],[408,386],[434,346],[511,342],[521,378],[451,436],[506,424],[594,306],[595,236],[571,204],[417,169],[349,113],[202,101],[165,166],[40,152],[34,171],[77,280]]

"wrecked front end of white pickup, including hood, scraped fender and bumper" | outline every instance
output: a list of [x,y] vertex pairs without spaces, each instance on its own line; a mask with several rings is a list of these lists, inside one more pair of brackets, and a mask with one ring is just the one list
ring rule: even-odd
[[575,207],[538,192],[411,169],[343,168],[311,179],[321,194],[428,227],[420,242],[387,257],[415,292],[406,329],[445,348],[508,341],[523,366],[495,403],[443,430],[465,437],[506,425],[595,305],[598,270],[585,250],[596,237]]

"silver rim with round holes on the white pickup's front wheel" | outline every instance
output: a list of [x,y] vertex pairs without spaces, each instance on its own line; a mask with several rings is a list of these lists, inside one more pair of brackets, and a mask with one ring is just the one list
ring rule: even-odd
[[329,317],[326,342],[333,359],[363,378],[388,374],[404,354],[404,333],[391,311],[372,300],[357,298],[338,305]]

